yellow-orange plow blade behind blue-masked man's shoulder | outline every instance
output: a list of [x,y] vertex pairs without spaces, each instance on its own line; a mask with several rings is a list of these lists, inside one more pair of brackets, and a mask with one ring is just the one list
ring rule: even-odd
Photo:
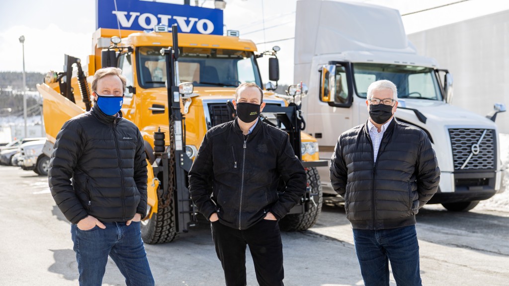
[[65,98],[49,85],[37,84],[37,90],[43,98],[42,110],[44,115],[44,127],[46,128],[46,137],[53,144],[56,134],[66,121],[85,112],[84,109]]

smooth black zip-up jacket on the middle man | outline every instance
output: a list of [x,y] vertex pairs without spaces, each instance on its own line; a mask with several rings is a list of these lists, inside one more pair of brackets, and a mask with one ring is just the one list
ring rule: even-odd
[[[189,171],[189,191],[200,213],[208,219],[217,212],[220,223],[238,230],[267,212],[284,217],[306,189],[304,168],[288,137],[260,120],[249,135],[236,120],[207,131]],[[279,177],[286,184],[280,196]]]

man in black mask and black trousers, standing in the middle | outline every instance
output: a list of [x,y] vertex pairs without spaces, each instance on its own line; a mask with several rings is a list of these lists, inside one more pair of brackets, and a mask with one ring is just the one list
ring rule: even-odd
[[[304,194],[306,175],[288,134],[260,120],[265,103],[258,85],[241,84],[233,103],[238,118],[207,131],[189,171],[189,191],[211,221],[226,285],[246,285],[246,245],[258,283],[283,285],[277,221]],[[279,178],[286,186],[281,195]]]

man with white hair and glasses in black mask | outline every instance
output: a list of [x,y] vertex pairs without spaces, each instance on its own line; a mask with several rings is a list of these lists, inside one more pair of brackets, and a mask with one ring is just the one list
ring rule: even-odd
[[367,89],[370,118],[338,138],[330,179],[345,198],[364,284],[389,285],[389,266],[398,285],[421,285],[415,215],[437,191],[440,179],[430,138],[393,118],[394,83]]

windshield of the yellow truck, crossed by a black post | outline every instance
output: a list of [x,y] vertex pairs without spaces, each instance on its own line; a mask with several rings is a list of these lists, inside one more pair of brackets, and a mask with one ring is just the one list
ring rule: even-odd
[[[240,83],[262,80],[254,53],[249,51],[181,47],[179,55],[180,82],[195,87],[237,87]],[[166,63],[161,47],[139,47],[136,51],[138,82],[142,88],[160,88],[166,82]]]

